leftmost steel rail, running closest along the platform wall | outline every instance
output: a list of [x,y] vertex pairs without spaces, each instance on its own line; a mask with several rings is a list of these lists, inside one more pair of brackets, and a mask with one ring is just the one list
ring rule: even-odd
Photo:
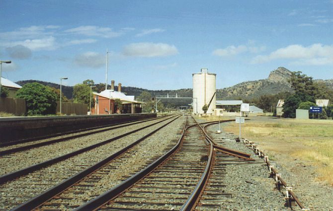
[[[162,118],[162,117],[154,118],[154,119],[150,118],[149,120],[144,120],[144,121],[135,121],[134,123],[130,123],[130,124],[121,123],[121,124],[116,124],[116,125],[120,125],[120,126],[116,126],[116,127],[113,127],[113,128],[101,129],[101,130],[98,130],[98,131],[92,131],[92,132],[88,132],[88,133],[84,133],[84,134],[73,135],[73,136],[70,136],[70,137],[59,138],[59,139],[55,139],[55,140],[51,140],[51,141],[43,141],[43,142],[40,142],[40,143],[32,143],[32,144],[29,144],[29,145],[26,145],[26,146],[19,146],[19,147],[16,147],[16,148],[0,151],[0,156],[10,154],[10,153],[14,153],[14,152],[24,151],[24,150],[31,149],[31,148],[37,148],[39,146],[49,145],[49,144],[52,144],[52,143],[58,143],[58,142],[62,142],[62,141],[68,141],[68,140],[71,140],[71,139],[77,139],[77,138],[80,138],[80,137],[89,136],[89,135],[96,134],[96,133],[111,131],[111,130],[114,130],[114,129],[123,128],[123,127],[127,127],[127,126],[130,126],[130,125],[135,125],[135,124],[138,124],[138,123],[153,121],[153,120],[157,120],[157,119],[160,119],[160,118]],[[111,127],[111,126],[103,126],[102,128],[105,128],[105,127]],[[87,130],[96,130],[96,129],[98,129],[98,128],[87,129]],[[87,131],[87,130],[85,130],[85,131]],[[82,132],[84,132],[84,131],[82,131]],[[70,133],[72,133],[72,132],[70,132]],[[74,131],[73,133],[79,133],[79,132]],[[57,136],[63,136],[63,135],[67,135],[67,134],[68,133],[66,132],[65,134],[58,134]],[[37,140],[35,140],[35,141],[37,141]]]

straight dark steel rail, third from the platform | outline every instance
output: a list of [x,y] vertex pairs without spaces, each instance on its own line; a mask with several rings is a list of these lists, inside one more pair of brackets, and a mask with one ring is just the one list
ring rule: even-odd
[[100,162],[92,165],[91,167],[88,167],[84,169],[83,171],[79,172],[78,174],[70,177],[69,179],[65,180],[62,183],[59,183],[58,185],[46,190],[45,192],[41,193],[40,195],[32,198],[31,200],[17,206],[16,208],[12,209],[11,211],[27,211],[27,210],[34,210],[37,209],[39,206],[50,200],[51,198],[59,195],[69,187],[75,185],[76,183],[80,182],[83,180],[83,178],[89,176],[93,172],[95,172],[97,169],[101,168],[102,166],[106,165],[107,163],[111,162],[115,158],[119,157],[126,151],[128,151],[130,148],[133,146],[137,145],[141,141],[147,139],[148,137],[152,136],[162,128],[166,127],[168,124],[171,122],[175,121],[178,119],[180,116],[176,117],[175,119],[171,120],[167,124],[159,127],[158,129],[154,130],[153,132],[150,132],[149,134],[145,135],[144,137],[140,138],[139,140],[129,144],[128,146],[124,147],[123,149],[115,152],[114,154],[110,155],[109,157],[106,157],[105,159],[101,160]]

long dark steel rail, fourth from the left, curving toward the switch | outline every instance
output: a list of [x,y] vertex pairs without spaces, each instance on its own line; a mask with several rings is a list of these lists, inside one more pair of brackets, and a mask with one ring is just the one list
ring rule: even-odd
[[184,124],[184,128],[183,128],[183,132],[182,132],[181,137],[179,138],[177,143],[167,153],[165,153],[160,158],[155,160],[153,163],[148,165],[146,168],[142,169],[141,171],[139,171],[135,175],[131,176],[127,180],[123,181],[119,185],[117,185],[117,186],[113,187],[112,189],[106,191],[104,194],[94,198],[93,200],[90,200],[89,202],[85,203],[84,205],[74,209],[74,211],[95,211],[95,210],[97,210],[98,208],[100,208],[101,206],[103,206],[104,204],[109,202],[110,200],[114,199],[115,197],[117,197],[118,195],[123,193],[124,190],[128,189],[129,187],[134,185],[136,182],[138,182],[139,180],[144,178],[147,174],[152,172],[154,169],[156,169],[168,157],[170,157],[174,152],[176,152],[177,149],[179,149],[179,147],[182,143],[182,140],[184,138],[186,130],[193,126],[193,125],[191,125],[191,126],[186,127],[186,123],[187,123],[187,118],[186,118],[186,122]]

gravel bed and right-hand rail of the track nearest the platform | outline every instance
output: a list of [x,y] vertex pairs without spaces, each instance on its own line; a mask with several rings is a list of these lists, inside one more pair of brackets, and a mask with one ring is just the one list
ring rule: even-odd
[[39,148],[32,148],[24,152],[11,153],[1,156],[0,160],[0,184],[13,179],[14,176],[22,176],[33,170],[38,170],[55,162],[68,159],[72,156],[92,150],[96,147],[116,141],[125,136],[130,136],[140,130],[153,127],[172,117],[154,120],[151,123],[140,123],[126,128],[101,132],[95,135],[85,136],[68,140],[65,142],[53,143]]

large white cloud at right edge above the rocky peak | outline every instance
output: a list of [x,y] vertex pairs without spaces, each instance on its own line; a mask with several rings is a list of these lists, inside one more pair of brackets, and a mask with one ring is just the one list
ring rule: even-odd
[[269,55],[259,55],[252,59],[252,64],[266,63],[277,59],[291,59],[293,64],[327,65],[333,64],[333,45],[313,44],[308,47],[289,45],[277,49]]

